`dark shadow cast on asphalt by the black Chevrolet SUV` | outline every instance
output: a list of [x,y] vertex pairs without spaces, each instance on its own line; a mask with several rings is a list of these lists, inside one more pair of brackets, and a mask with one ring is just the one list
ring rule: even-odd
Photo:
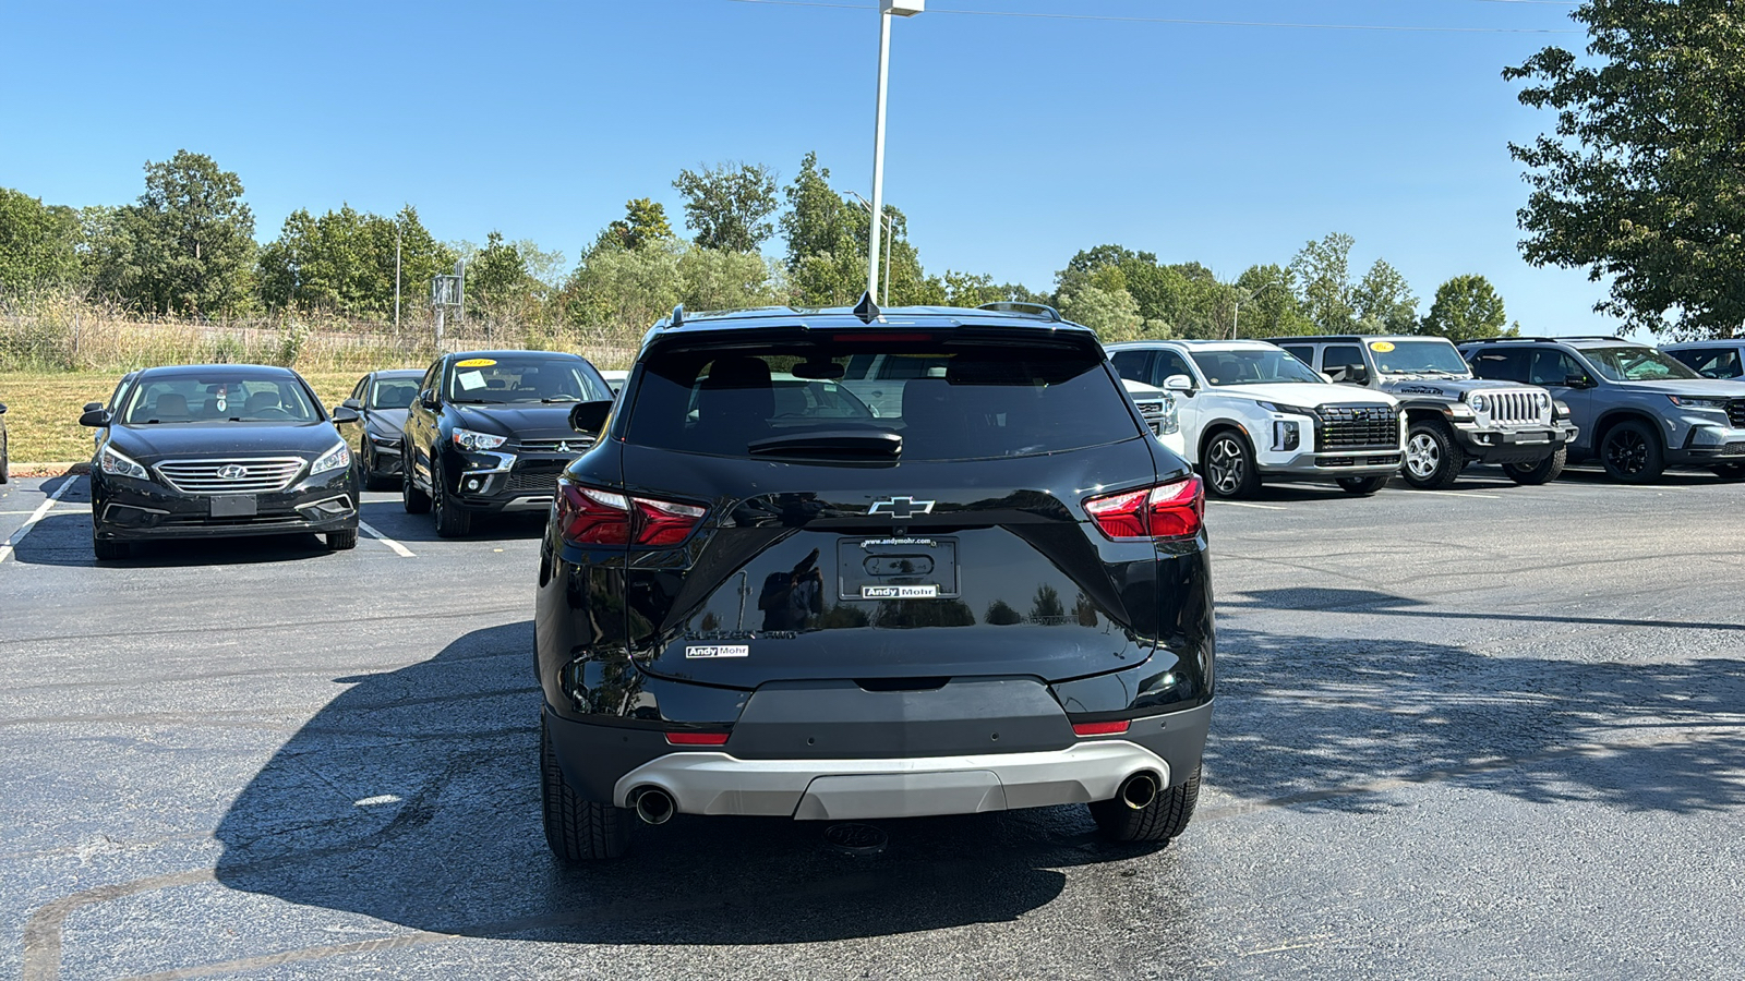
[[539,822],[530,651],[513,623],[335,679],[220,822],[218,880],[433,932],[780,944],[1012,922],[1061,895],[1061,868],[1157,850],[1101,843],[1084,808],[879,822],[876,855],[831,850],[822,824],[681,815],[567,869]]

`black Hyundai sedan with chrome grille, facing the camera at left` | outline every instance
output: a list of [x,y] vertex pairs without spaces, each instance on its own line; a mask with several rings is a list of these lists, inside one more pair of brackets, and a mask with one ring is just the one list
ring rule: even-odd
[[138,372],[110,408],[80,415],[98,433],[91,546],[122,559],[129,541],[323,534],[358,545],[358,473],[337,424],[290,368],[162,367]]

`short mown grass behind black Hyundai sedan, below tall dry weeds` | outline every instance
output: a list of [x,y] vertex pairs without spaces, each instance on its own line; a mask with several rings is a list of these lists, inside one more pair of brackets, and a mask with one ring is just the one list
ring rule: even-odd
[[[386,365],[396,367],[396,365]],[[339,405],[363,372],[307,372],[323,405]],[[120,372],[0,372],[0,403],[14,470],[23,463],[91,459],[91,429],[79,424],[87,401],[108,401]]]

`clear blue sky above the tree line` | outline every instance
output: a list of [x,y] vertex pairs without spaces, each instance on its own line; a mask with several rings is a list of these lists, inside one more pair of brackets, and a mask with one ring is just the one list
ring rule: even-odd
[[[878,16],[735,0],[23,3],[3,21],[0,185],[134,199],[178,148],[241,175],[257,237],[295,208],[419,208],[443,239],[572,264],[681,168],[817,150],[871,183]],[[895,23],[886,199],[928,271],[1047,288],[1101,243],[1222,278],[1356,236],[1424,307],[1488,276],[1529,332],[1609,332],[1583,271],[1532,269],[1509,140],[1551,122],[1501,79],[1579,33],[1075,21],[942,9],[1567,31],[1543,0],[930,0]],[[23,42],[23,44],[21,44]],[[771,243],[778,250],[780,243]]]

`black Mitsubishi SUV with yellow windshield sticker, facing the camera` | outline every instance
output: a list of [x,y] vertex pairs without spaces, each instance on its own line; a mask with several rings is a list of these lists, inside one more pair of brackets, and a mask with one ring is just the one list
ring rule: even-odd
[[551,351],[443,354],[419,382],[401,433],[400,492],[436,534],[462,536],[473,515],[544,511],[557,475],[593,445],[569,426],[576,403],[612,398],[585,358]]

